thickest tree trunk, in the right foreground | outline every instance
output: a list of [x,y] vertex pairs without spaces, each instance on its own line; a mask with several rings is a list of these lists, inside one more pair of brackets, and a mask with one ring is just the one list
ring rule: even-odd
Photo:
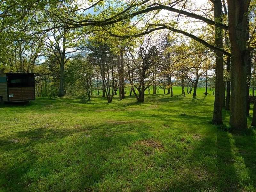
[[230,125],[235,130],[247,129],[246,118],[246,49],[247,12],[250,0],[228,1],[228,33],[231,44]]

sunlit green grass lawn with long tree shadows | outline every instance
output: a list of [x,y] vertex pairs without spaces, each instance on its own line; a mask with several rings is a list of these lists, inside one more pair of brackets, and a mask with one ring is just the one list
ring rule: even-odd
[[1,106],[0,191],[256,191],[256,131],[212,125],[203,92]]

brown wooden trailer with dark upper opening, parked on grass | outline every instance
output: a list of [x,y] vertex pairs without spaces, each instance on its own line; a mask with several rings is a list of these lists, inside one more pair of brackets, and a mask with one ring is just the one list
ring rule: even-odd
[[23,102],[35,100],[35,74],[0,74],[0,100],[4,102]]

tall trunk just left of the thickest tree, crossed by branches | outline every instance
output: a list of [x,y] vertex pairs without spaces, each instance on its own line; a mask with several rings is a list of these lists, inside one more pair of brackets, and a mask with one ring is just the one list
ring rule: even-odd
[[[214,0],[214,20],[217,23],[222,23],[222,4],[221,0]],[[215,26],[215,44],[217,47],[223,47],[223,34],[222,29]],[[223,54],[220,52],[216,53],[215,56],[216,67],[215,67],[215,97],[214,97],[214,109],[212,123],[222,124],[222,102],[223,102]]]

